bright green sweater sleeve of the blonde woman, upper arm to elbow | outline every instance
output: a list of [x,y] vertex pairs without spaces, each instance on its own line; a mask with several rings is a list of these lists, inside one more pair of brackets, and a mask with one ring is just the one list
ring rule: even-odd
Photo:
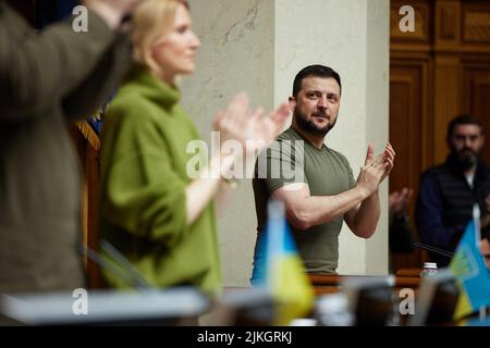
[[131,100],[109,108],[101,209],[110,223],[133,235],[172,244],[188,229],[186,183],[172,169],[172,149],[156,121],[142,116],[145,112]]

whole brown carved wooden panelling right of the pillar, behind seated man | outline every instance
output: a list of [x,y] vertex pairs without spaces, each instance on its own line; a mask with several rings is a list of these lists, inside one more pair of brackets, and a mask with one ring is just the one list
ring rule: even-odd
[[[399,27],[403,5],[415,10],[415,32]],[[490,132],[490,1],[392,0],[390,18],[390,140],[396,150],[390,192],[414,188],[414,221],[420,174],[448,156],[449,121],[470,113]],[[490,146],[482,158],[490,163]],[[394,271],[425,259],[419,250],[391,253]]]

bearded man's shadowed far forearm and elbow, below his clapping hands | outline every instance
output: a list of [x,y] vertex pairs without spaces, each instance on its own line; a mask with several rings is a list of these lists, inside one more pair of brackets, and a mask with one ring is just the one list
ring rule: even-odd
[[376,232],[379,216],[379,194],[376,191],[360,203],[354,219],[353,232],[358,237],[369,238]]

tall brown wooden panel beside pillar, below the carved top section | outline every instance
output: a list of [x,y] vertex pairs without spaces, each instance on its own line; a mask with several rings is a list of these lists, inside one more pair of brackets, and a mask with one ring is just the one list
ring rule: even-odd
[[[431,63],[427,54],[394,54],[390,72],[390,140],[396,150],[396,165],[390,174],[390,191],[414,189],[408,213],[414,217],[419,175],[431,162]],[[415,226],[414,226],[415,227]],[[417,239],[414,229],[414,239]],[[392,253],[392,270],[419,266],[426,256]]]

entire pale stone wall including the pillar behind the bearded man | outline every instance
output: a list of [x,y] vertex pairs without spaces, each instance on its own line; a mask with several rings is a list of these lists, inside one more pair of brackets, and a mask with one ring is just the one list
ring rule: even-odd
[[[237,91],[271,109],[287,99],[295,74],[321,63],[343,84],[340,117],[328,146],[343,152],[357,176],[367,142],[381,150],[388,138],[388,0],[191,0],[203,46],[196,74],[183,82],[183,104],[209,140],[216,112]],[[387,210],[387,184],[381,189]],[[388,222],[376,236],[340,238],[343,274],[388,270]],[[225,286],[246,286],[252,269],[256,217],[249,181],[244,181],[219,220]]]

